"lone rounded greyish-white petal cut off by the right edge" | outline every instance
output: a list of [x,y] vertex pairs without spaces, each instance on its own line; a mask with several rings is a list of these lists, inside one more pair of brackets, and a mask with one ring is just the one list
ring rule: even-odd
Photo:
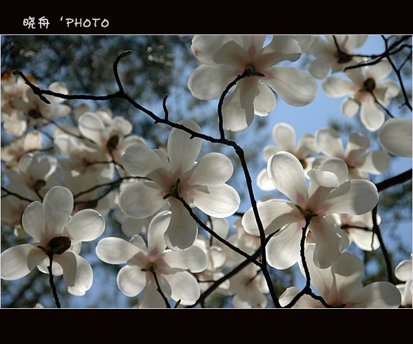
[[390,154],[412,158],[412,118],[390,118],[379,129],[381,148]]

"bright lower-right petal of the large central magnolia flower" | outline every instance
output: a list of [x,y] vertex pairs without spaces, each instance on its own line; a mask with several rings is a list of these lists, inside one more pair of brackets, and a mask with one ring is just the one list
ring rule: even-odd
[[227,184],[200,186],[193,192],[193,205],[213,217],[229,217],[240,206],[240,196]]

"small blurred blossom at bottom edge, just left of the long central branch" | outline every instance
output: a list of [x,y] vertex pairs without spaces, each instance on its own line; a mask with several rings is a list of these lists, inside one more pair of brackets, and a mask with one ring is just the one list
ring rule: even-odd
[[248,264],[229,280],[230,291],[234,294],[234,308],[266,308],[268,300],[265,294],[270,292],[260,268]]

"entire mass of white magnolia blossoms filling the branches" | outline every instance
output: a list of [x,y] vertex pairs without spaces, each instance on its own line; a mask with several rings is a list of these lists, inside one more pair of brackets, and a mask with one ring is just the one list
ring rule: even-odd
[[[266,263],[277,270],[297,264],[305,277],[308,269],[313,289],[325,301],[304,294],[295,308],[411,307],[411,258],[394,271],[403,284],[362,286],[363,263],[348,252],[352,243],[366,251],[380,247],[373,230],[381,223],[379,215],[373,219],[379,192],[370,175],[388,171],[392,155],[412,157],[412,120],[385,120],[383,112],[399,94],[397,83],[383,80],[392,72],[390,63],[383,59],[344,70],[365,62],[352,51],[366,39],[193,37],[191,50],[200,66],[189,76],[189,91],[200,100],[226,94],[221,99],[222,129],[247,130],[255,115],[275,110],[276,96],[305,107],[319,92],[316,79],[322,79],[328,96],[348,96],[341,104],[347,118],[359,112],[366,130],[377,131],[381,149],[370,149],[364,133],[351,133],[344,145],[335,129],[325,127],[297,141],[291,125],[277,123],[275,145],[264,147],[266,168],[256,182],[262,191],[285,197],[269,193],[244,214],[237,213],[242,200],[229,184],[231,159],[218,152],[199,157],[203,134],[195,121],[180,120],[166,148],[151,148],[134,135],[127,118],[114,116],[111,109],[93,110],[86,103],[72,109],[54,96],[45,96],[46,104],[21,78],[4,73],[1,121],[15,138],[1,147],[8,180],[1,224],[28,242],[2,251],[1,278],[20,279],[38,268],[50,277],[63,275],[70,294],[85,294],[93,272],[79,255],[81,244],[101,237],[105,216],[116,214],[121,233],[101,238],[93,254],[120,266],[117,286],[127,297],[138,297],[136,308],[195,305],[214,287],[232,298],[234,308],[266,308],[271,288],[263,264],[244,264],[245,256],[260,251],[263,239]],[[314,57],[308,72],[286,66],[302,54]],[[337,76],[339,72],[350,80]],[[60,82],[49,89],[69,93]],[[68,114],[76,125],[59,125],[59,118]],[[54,125],[50,147],[40,133],[47,125]],[[49,149],[59,156],[47,154]],[[207,235],[198,228],[200,213],[208,218]],[[286,288],[279,304],[288,305],[299,292]],[[207,295],[202,302],[208,300]]]

